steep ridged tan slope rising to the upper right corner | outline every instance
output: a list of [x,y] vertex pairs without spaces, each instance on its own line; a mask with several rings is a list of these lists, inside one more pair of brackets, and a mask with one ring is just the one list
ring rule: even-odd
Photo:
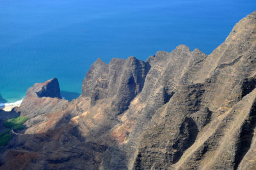
[[[199,169],[237,168],[237,164],[241,161],[240,159],[243,159],[244,154],[240,152],[247,152],[246,150],[241,151],[241,145],[250,147],[251,137],[243,139],[242,134],[245,133],[246,135],[246,133],[253,131],[253,118],[252,122],[248,123],[250,126],[247,127],[246,132],[240,132],[241,136],[234,135],[233,139],[223,137],[227,129],[234,124],[232,120],[225,122],[220,127],[215,126],[218,125],[219,118],[224,117],[223,115],[227,114],[234,104],[241,101],[246,94],[249,94],[255,88],[255,23],[254,12],[234,27],[225,43],[205,60],[201,61],[200,64],[203,69],[199,71],[196,71],[193,67],[188,69],[190,76],[188,78],[184,77],[184,81],[180,81],[179,90],[166,104],[164,110],[159,111],[158,115],[156,114],[157,117],[162,115],[161,119],[156,124],[152,124],[152,127],[143,134],[134,164],[135,169],[168,169],[175,163],[177,165],[172,167],[177,169],[179,169],[180,165],[184,169],[192,167],[199,167]],[[244,27],[248,28],[246,32],[244,32]],[[239,43],[234,43],[235,40],[233,38],[237,38]],[[241,52],[240,46],[243,46],[246,50]],[[218,51],[222,51],[221,56]],[[207,71],[211,70],[212,65],[215,68],[207,73]],[[202,73],[203,71],[205,73]],[[204,75],[200,75],[200,78],[205,79],[204,82],[193,77],[193,74]],[[253,103],[253,97],[246,103]],[[245,106],[247,105],[246,103],[244,103]],[[254,105],[250,106],[249,104],[248,107],[247,110],[249,111],[246,111],[248,114],[250,110],[254,111]],[[239,110],[237,118],[240,118],[244,110]],[[250,114],[253,115],[254,113]],[[204,127],[211,119],[214,122],[214,126]],[[248,121],[245,120],[245,117],[240,121],[242,120]],[[240,124],[237,123],[237,128],[241,128],[241,131],[243,131],[242,125],[242,122]],[[227,126],[227,129],[225,129],[225,126]],[[233,130],[235,131],[236,129],[233,128]],[[198,131],[205,131],[205,133],[198,134]],[[209,134],[212,134],[212,136]],[[248,135],[250,136],[250,134]],[[232,155],[230,153],[229,155],[225,155],[225,153],[222,153],[223,155],[217,154],[227,152],[225,147],[229,144],[222,143],[222,140],[225,139],[234,141],[233,148],[228,148],[230,152],[234,151]],[[207,140],[208,142],[206,143]],[[245,144],[243,140],[246,140]],[[188,149],[188,152],[184,153],[186,149]],[[210,154],[208,150],[210,150],[211,155],[207,157],[205,155]],[[238,151],[236,152],[236,150]],[[188,154],[191,156],[188,157]],[[214,162],[212,155],[218,155],[218,160]],[[150,161],[156,159],[157,161]],[[207,162],[207,160],[212,162]],[[184,166],[186,161],[189,162],[188,166]],[[202,167],[200,164],[204,166]]]

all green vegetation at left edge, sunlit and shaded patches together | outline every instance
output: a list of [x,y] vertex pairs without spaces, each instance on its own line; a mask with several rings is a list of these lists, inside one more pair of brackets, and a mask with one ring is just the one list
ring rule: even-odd
[[11,129],[24,129],[24,124],[28,120],[27,117],[10,118],[4,122],[4,127],[8,128],[5,132],[0,134],[0,146],[7,145],[8,141],[12,138],[10,134]]

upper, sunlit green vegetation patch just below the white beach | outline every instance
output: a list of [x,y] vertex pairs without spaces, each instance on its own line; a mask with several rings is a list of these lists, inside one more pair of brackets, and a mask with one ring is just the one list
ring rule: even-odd
[[24,129],[24,125],[22,124],[24,124],[27,120],[28,120],[27,117],[10,118],[6,122],[4,122],[4,126],[6,128],[16,129],[16,130]]

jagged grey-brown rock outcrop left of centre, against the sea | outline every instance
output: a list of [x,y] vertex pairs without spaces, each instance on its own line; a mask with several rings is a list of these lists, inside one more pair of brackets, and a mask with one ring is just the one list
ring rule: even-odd
[[143,89],[149,69],[147,62],[134,57],[112,59],[109,65],[98,59],[84,78],[82,96],[90,97],[92,105],[108,98],[112,110],[122,113]]

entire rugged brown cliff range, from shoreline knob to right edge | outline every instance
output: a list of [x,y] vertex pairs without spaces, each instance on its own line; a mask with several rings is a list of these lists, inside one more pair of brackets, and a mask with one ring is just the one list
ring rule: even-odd
[[98,59],[71,102],[58,80],[31,87],[0,168],[253,169],[255,86],[253,12],[210,55],[180,45],[146,62]]

